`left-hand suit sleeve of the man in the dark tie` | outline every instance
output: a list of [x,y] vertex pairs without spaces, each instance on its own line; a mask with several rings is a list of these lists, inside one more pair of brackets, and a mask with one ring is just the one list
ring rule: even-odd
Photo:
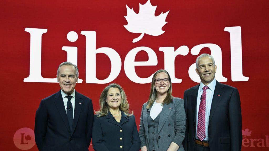
[[47,133],[48,114],[44,100],[41,100],[40,105],[36,111],[36,119],[34,125],[35,141],[38,150],[42,150],[44,139]]

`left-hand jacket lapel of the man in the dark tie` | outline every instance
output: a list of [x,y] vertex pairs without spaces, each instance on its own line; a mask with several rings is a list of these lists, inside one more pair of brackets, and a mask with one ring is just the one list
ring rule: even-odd
[[65,111],[65,105],[63,104],[63,98],[62,98],[62,94],[61,94],[61,90],[56,94],[55,98],[54,98],[54,103],[58,109],[58,112],[60,113],[63,122],[65,123],[66,128],[68,129],[69,133],[70,132],[70,127],[68,124],[68,119],[67,119],[67,115],[66,115],[66,111]]

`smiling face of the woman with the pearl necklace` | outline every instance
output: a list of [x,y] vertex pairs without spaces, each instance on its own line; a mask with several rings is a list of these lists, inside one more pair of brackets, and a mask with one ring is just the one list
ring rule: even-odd
[[110,88],[107,92],[107,102],[109,108],[117,109],[121,105],[121,91],[118,88]]

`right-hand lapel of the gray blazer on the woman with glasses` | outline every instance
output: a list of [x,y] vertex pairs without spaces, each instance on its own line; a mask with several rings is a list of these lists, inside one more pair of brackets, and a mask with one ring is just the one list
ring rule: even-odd
[[161,131],[162,127],[164,126],[164,123],[165,123],[168,115],[170,114],[172,108],[173,108],[173,102],[171,102],[169,104],[165,104],[162,107],[162,111],[160,113],[160,120],[159,120],[157,135],[159,135],[159,132]]

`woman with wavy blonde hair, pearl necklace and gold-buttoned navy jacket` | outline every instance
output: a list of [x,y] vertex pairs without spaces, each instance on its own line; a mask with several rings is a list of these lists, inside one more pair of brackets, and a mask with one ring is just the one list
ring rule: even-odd
[[93,148],[95,151],[140,149],[133,111],[129,110],[125,92],[118,84],[109,84],[99,99],[100,109],[93,123]]

